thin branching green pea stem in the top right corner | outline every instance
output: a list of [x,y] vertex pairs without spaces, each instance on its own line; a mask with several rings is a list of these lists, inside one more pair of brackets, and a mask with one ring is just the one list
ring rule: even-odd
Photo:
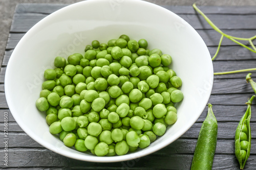
[[[220,33],[222,36],[221,36],[221,39],[220,39],[220,42],[219,42],[219,45],[218,45],[218,48],[217,48],[217,51],[214,55],[214,57],[212,57],[211,60],[214,60],[215,57],[218,55],[219,53],[219,50],[220,50],[220,46],[221,46],[221,42],[222,42],[222,39],[223,37],[226,37],[230,40],[232,40],[233,42],[236,42],[237,44],[247,48],[248,50],[250,50],[251,52],[253,53],[256,53],[256,47],[254,46],[254,44],[252,43],[252,40],[256,38],[256,35],[253,36],[253,37],[250,37],[250,38],[241,38],[241,37],[234,37],[234,36],[231,36],[231,35],[228,35],[228,34],[225,34],[223,33],[197,6],[196,6],[196,3],[193,4],[193,7],[195,8],[195,10],[197,12],[199,12],[203,17],[204,19],[209,23],[209,25],[215,30],[217,31],[218,33]],[[252,46],[252,48],[244,45],[243,43],[237,41],[237,40],[242,40],[242,41],[249,41],[250,45]]]

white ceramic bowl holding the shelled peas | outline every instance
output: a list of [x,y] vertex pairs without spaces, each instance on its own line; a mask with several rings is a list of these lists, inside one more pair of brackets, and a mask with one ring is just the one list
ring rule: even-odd
[[[92,40],[108,42],[120,35],[144,38],[148,48],[173,57],[184,100],[178,120],[148,148],[115,157],[96,157],[66,147],[49,133],[45,114],[35,107],[44,70],[56,56],[84,54]],[[92,162],[117,162],[156,152],[183,135],[205,108],[212,89],[213,67],[199,34],[182,18],[160,6],[136,0],[89,0],[62,8],[39,21],[19,41],[6,69],[5,94],[16,122],[31,138],[58,154]]]

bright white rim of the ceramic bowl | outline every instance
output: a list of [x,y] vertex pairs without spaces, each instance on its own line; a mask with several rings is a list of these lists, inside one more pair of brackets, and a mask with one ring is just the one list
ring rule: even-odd
[[[45,18],[41,19],[40,21],[38,21],[31,29],[29,29],[27,31],[27,33],[20,39],[20,41],[17,43],[16,47],[19,46],[19,44],[23,43],[23,41],[26,39],[26,37],[28,37],[31,32],[33,32],[33,30],[36,30],[38,29],[41,25],[44,25],[44,23],[47,21],[48,18],[51,18],[51,17],[54,17],[55,15],[59,15],[61,14],[62,12],[66,11],[66,9],[69,9],[69,8],[75,8],[76,6],[80,6],[80,5],[89,5],[90,3],[98,3],[98,2],[102,2],[102,1],[106,1],[106,0],[87,0],[87,1],[82,1],[82,2],[77,2],[77,3],[74,3],[74,4],[71,4],[71,5],[67,5],[66,7],[63,7],[51,14],[49,14],[48,16],[46,16]],[[111,1],[111,0],[108,0],[108,1]],[[121,1],[125,1],[125,0],[121,0]],[[140,4],[143,4],[143,5],[146,5],[146,6],[152,6],[158,10],[164,10],[165,12],[169,13],[170,15],[172,15],[173,17],[176,17],[176,18],[181,18],[180,16],[178,16],[177,14],[175,14],[174,12],[168,10],[168,9],[165,9],[164,7],[161,7],[159,5],[156,5],[156,4],[153,4],[153,3],[150,3],[150,2],[145,2],[145,1],[139,1],[139,0],[129,0],[127,1],[129,3],[140,3]],[[202,37],[198,34],[198,32],[189,25],[189,23],[187,23],[186,21],[184,21],[188,27],[190,27],[190,30],[194,32],[194,34],[196,34],[199,38],[202,39]],[[204,40],[202,39],[202,41],[204,42]],[[205,42],[204,42],[205,44]],[[206,44],[205,44],[206,46]],[[12,61],[13,59],[13,55],[16,53],[16,49],[17,48],[14,48],[13,50],[13,53],[8,61],[8,64],[7,64],[7,68],[6,68],[6,74],[5,74],[5,94],[6,94],[6,100],[7,100],[7,104],[8,106],[12,106],[11,104],[11,99],[9,98],[9,95],[8,95],[8,91],[9,91],[9,84],[8,84],[8,72],[10,71],[9,70],[9,62]],[[206,46],[207,48],[207,46]],[[208,51],[208,48],[207,48],[207,52],[209,53]],[[210,54],[209,54],[209,59],[210,59]],[[211,62],[211,67],[210,67],[210,72],[212,73],[211,74],[211,77],[210,79],[213,80],[214,78],[214,68],[213,68],[213,65],[212,65],[212,62]],[[208,91],[208,94],[207,94],[207,99],[209,100],[210,98],[210,94],[211,94],[211,90],[212,90],[212,86],[213,86],[213,81],[210,82],[210,90]],[[207,104],[207,101],[205,101],[204,105],[206,106]],[[15,107],[15,106],[14,106]],[[9,107],[11,113],[12,113],[12,107]],[[204,108],[201,109],[201,114],[203,112]],[[97,157],[97,156],[94,156],[94,155],[90,155],[90,156],[84,156],[84,157],[79,157],[79,155],[77,154],[70,154],[69,152],[67,151],[63,151],[63,150],[58,150],[58,151],[54,151],[51,147],[49,147],[47,145],[47,143],[45,143],[44,141],[41,141],[41,140],[38,140],[35,136],[32,136],[30,133],[27,133],[29,132],[30,130],[28,130],[25,126],[23,126],[24,124],[21,123],[21,121],[19,119],[17,119],[17,117],[15,116],[15,114],[12,114],[15,121],[17,122],[17,124],[20,126],[20,128],[22,128],[22,130],[28,135],[30,136],[33,140],[35,140],[36,142],[38,142],[39,144],[41,144],[42,146],[44,146],[45,148],[49,149],[50,151],[53,151],[59,155],[62,155],[62,156],[66,156],[66,157],[69,157],[69,158],[72,158],[72,159],[77,159],[77,160],[81,160],[81,161],[90,161],[90,162],[120,162],[120,161],[127,161],[127,160],[132,160],[132,159],[136,159],[136,158],[140,158],[140,157],[143,157],[143,156],[146,156],[146,155],[150,155],[160,149],[163,149],[164,147],[166,147],[167,145],[169,145],[170,143],[174,142],[175,140],[177,140],[180,136],[182,136],[188,129],[191,128],[191,126],[193,126],[195,123],[196,123],[196,120],[200,117],[199,114],[197,117],[195,117],[195,121],[193,123],[191,123],[191,125],[187,126],[187,128],[183,129],[182,133],[177,135],[177,138],[175,138],[174,140],[170,140],[170,141],[166,141],[163,145],[161,146],[156,146],[154,148],[152,148],[151,150],[148,150],[147,152],[139,152],[139,154],[136,155],[136,153],[131,153],[131,154],[126,154],[126,155],[123,155],[123,156],[114,156],[114,157]],[[74,155],[77,155],[74,157]],[[132,156],[127,156],[127,155],[132,155]]]

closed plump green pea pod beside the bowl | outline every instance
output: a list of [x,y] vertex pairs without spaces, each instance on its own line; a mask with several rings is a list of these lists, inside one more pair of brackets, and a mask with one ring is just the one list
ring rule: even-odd
[[208,104],[208,114],[199,132],[191,170],[211,169],[212,163],[214,162],[217,133],[217,119],[212,111],[212,105]]

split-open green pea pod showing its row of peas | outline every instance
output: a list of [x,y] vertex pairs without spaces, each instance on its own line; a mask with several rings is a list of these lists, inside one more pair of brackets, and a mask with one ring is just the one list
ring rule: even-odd
[[251,103],[255,95],[246,103],[247,110],[243,117],[241,118],[238,128],[236,130],[236,135],[234,137],[234,151],[240,164],[240,169],[244,169],[244,165],[250,156],[251,148],[251,129],[250,129],[250,119],[251,119]]

